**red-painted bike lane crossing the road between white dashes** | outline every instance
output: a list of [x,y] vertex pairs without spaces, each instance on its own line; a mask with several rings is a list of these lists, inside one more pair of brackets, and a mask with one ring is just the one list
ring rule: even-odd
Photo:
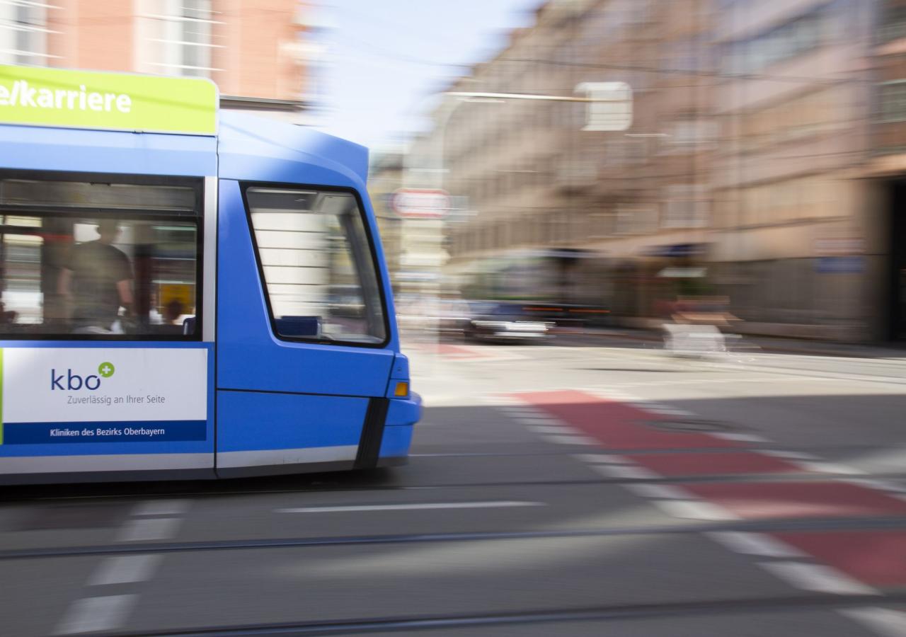
[[[679,421],[681,426],[684,417],[656,405],[575,390],[510,396],[594,440],[622,468],[642,468],[642,476],[668,478],[664,482],[671,489],[679,489],[689,501],[719,507],[726,519],[845,519],[851,523],[845,530],[757,535],[866,586],[906,587],[906,497],[901,494],[823,473],[815,468],[820,463],[779,458],[772,455],[776,445],[770,441],[725,438],[719,430],[673,429],[671,423]],[[861,528],[858,521],[863,517],[866,525]],[[872,528],[871,518],[894,518],[894,523],[902,518],[902,528]]]

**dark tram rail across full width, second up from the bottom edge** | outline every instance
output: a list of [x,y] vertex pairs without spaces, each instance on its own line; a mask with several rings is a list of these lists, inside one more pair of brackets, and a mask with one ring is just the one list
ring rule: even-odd
[[325,546],[404,545],[493,542],[506,540],[561,539],[576,537],[675,536],[711,532],[783,533],[794,531],[906,529],[906,516],[862,516],[837,518],[785,518],[734,520],[730,522],[678,522],[666,525],[618,526],[612,528],[536,531],[476,531],[455,533],[386,534],[373,536],[275,537],[195,542],[147,542],[134,544],[59,546],[0,550],[0,562],[61,557],[200,553]]

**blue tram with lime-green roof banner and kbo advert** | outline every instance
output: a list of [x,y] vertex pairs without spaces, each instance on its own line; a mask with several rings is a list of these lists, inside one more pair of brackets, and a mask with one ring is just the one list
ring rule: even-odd
[[217,104],[0,66],[0,483],[406,460],[367,150]]

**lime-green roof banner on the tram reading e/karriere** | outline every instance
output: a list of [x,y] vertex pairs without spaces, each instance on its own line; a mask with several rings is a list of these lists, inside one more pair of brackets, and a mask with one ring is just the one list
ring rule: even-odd
[[217,85],[202,78],[0,65],[0,123],[217,134]]

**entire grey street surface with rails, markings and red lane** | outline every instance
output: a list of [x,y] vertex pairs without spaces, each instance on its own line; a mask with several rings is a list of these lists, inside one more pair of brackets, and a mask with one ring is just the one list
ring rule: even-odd
[[906,635],[906,358],[410,343],[410,464],[4,487],[3,634]]

